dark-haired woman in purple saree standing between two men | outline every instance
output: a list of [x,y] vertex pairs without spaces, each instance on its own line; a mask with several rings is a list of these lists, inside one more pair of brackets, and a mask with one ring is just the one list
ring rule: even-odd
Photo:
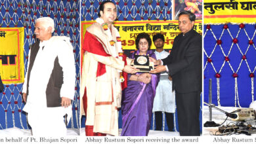
[[[150,56],[156,59],[156,55],[150,49],[152,41],[147,33],[140,33],[135,40],[135,55]],[[127,88],[123,90],[121,101],[122,136],[146,136],[150,130],[152,107],[156,86],[160,75],[150,73],[136,73],[128,75]]]

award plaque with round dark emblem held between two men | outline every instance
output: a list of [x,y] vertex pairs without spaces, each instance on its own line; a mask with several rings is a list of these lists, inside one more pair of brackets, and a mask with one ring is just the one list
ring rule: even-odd
[[135,55],[134,65],[138,72],[149,72],[154,69],[154,62],[150,62],[148,56]]

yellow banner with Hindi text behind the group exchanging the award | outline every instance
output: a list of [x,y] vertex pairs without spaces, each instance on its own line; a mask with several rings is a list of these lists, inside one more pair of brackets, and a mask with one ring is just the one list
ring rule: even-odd
[[[83,21],[81,22],[81,38],[83,45],[83,37],[85,35],[86,28],[91,26],[95,21]],[[170,49],[173,47],[174,38],[181,33],[177,20],[169,21],[157,21],[157,20],[145,20],[145,21],[119,21],[115,22],[114,26],[119,30],[121,36],[121,42],[123,50],[135,50],[135,39],[139,33],[145,32],[152,38],[156,33],[162,33],[165,36],[164,49]],[[202,21],[196,21],[194,29],[198,33],[202,34]],[[156,49],[152,43],[151,49]]]

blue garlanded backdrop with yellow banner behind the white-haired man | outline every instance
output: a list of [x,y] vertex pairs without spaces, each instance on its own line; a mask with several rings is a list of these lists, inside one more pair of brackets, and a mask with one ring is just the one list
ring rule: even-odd
[[[0,31],[2,29],[24,29],[24,33],[19,33],[24,37],[24,41],[20,41],[20,50],[22,50],[22,60],[20,60],[21,73],[26,75],[28,66],[28,52],[30,46],[35,43],[33,35],[35,20],[42,16],[49,16],[54,19],[55,31],[54,35],[65,35],[70,37],[71,43],[74,46],[74,57],[76,66],[76,86],[74,101],[72,103],[73,117],[68,123],[68,128],[79,128],[79,2],[78,1],[1,1],[0,5]],[[6,27],[6,28],[5,28]],[[2,34],[0,34],[2,35]],[[6,35],[7,36],[7,35]],[[17,37],[17,35],[15,34]],[[2,39],[3,37],[0,37]],[[17,38],[16,38],[17,39]],[[17,43],[16,39],[13,42],[9,41],[9,45]],[[22,40],[22,39],[20,39]],[[23,45],[24,43],[24,45]],[[0,52],[7,50],[1,42]],[[5,47],[3,47],[5,46]],[[24,48],[24,51],[23,51]],[[0,59],[1,77],[2,77],[2,62]],[[18,61],[16,61],[18,63]],[[3,77],[2,77],[3,79]],[[24,79],[24,78],[23,78]],[[22,112],[24,103],[22,103],[22,83],[12,82],[5,84],[3,93],[0,93],[0,129],[18,127],[28,129],[26,113]],[[20,84],[21,83],[21,84]]]

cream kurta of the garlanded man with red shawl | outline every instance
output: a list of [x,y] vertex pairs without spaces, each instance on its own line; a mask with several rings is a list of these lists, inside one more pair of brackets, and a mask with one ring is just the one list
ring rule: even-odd
[[[117,41],[118,31],[112,26],[112,35],[110,35],[110,30],[105,31],[99,23],[88,27],[87,31],[95,35],[104,47],[104,51],[111,56],[100,56],[87,51],[84,54],[80,94],[83,96],[86,88],[87,119],[85,125],[93,126],[93,132],[118,135],[117,107],[121,107],[119,72],[123,69],[124,62],[117,58],[120,52],[118,43],[114,46],[110,45],[111,40]],[[85,41],[85,43],[92,42]],[[119,45],[121,46],[121,43]],[[106,65],[106,73],[96,77],[98,62]]]

